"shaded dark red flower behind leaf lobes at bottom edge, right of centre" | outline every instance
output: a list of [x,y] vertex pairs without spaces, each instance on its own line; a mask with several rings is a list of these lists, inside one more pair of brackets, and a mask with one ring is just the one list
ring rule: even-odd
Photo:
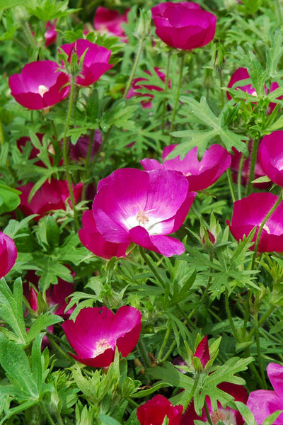
[[[246,388],[243,385],[231,384],[230,382],[221,382],[217,385],[219,390],[227,392],[238,402],[246,404],[248,399],[248,394]],[[243,425],[244,421],[240,414],[236,410],[231,409],[231,407],[222,407],[221,403],[217,403],[217,410],[212,409],[212,403],[208,396],[205,397],[207,402],[207,409],[209,411],[209,416],[212,419],[212,424],[216,425],[218,421],[223,421],[224,424],[233,424],[233,425]],[[195,420],[207,422],[207,414],[205,413],[204,408],[202,409],[202,416],[198,416],[195,412],[193,402],[190,402],[187,409],[185,410],[180,425],[194,425]]]

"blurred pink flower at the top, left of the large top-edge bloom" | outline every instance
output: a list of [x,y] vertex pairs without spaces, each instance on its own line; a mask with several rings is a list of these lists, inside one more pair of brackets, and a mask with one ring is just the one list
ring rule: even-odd
[[122,23],[127,22],[128,12],[129,9],[125,13],[120,14],[118,11],[98,6],[93,18],[93,27],[100,33],[110,33],[122,38],[122,40],[127,40]]

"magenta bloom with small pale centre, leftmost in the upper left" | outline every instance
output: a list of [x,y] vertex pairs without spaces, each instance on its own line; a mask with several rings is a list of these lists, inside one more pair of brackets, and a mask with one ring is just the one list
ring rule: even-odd
[[68,94],[69,76],[52,60],[26,64],[21,74],[8,79],[11,95],[28,109],[44,109],[61,102]]

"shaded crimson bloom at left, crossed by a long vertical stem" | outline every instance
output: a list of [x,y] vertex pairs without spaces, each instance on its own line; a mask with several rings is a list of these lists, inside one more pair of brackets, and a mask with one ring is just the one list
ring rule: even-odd
[[[45,212],[52,210],[65,210],[66,201],[70,198],[69,186],[66,180],[50,179],[45,181],[42,186],[35,192],[33,198],[28,202],[28,196],[33,189],[34,183],[26,183],[19,186],[18,190],[21,191],[21,204],[18,208],[23,211],[25,215],[38,214],[35,220],[39,220]],[[81,196],[83,183],[78,183],[74,186],[74,198],[77,202]],[[71,203],[69,203],[71,205]]]

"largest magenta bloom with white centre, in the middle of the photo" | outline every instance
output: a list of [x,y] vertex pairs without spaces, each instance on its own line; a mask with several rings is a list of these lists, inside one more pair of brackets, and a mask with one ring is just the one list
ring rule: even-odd
[[119,169],[98,183],[93,215],[108,242],[134,242],[165,256],[183,254],[182,242],[166,236],[179,229],[196,193],[184,176],[159,169]]

